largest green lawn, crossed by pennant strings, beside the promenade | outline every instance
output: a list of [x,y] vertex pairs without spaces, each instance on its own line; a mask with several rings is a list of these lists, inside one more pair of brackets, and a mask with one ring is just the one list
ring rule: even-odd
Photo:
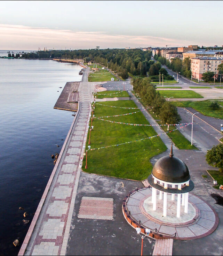
[[[103,102],[104,105],[137,107],[132,100],[119,100]],[[110,116],[136,112],[139,109],[113,108],[95,104],[96,116]],[[117,122],[148,124],[142,112],[131,115],[103,118]],[[91,149],[104,146],[127,144],[113,146],[110,148],[90,150],[87,152],[87,166],[85,169],[86,158],[83,159],[83,171],[89,173],[114,176],[118,178],[143,180],[146,179],[152,170],[150,158],[164,152],[167,148],[159,137],[145,139],[128,143],[130,141],[140,140],[142,138],[156,135],[151,126],[130,126],[118,123],[110,123],[98,119],[92,122],[94,129],[90,134]],[[87,137],[88,146],[89,134]]]

